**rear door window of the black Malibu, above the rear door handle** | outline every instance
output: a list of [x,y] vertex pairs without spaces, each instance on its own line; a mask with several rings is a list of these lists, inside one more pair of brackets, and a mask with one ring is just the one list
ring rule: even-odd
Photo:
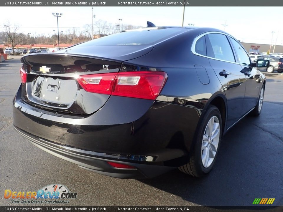
[[226,35],[208,34],[210,45],[207,45],[207,54],[215,59],[235,62],[234,54]]

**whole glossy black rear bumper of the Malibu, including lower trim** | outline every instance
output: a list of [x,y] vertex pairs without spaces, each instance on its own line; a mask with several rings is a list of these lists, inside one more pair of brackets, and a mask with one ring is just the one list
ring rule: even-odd
[[[82,168],[118,178],[151,178],[187,163],[202,112],[111,96],[91,115],[72,115],[27,104],[21,87],[13,104],[14,127],[25,140]],[[107,161],[136,169],[114,168]]]

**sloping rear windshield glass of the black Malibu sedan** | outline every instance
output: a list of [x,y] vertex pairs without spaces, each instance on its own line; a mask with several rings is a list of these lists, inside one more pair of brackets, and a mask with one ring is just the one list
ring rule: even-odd
[[121,32],[108,35],[89,42],[80,44],[80,46],[125,46],[155,44],[164,39],[184,32],[181,28],[163,28],[163,29],[140,29],[135,31]]

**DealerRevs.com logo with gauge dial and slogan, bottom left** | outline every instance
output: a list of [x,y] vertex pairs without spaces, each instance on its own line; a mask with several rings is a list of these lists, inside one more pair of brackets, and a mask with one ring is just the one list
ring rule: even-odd
[[77,198],[77,193],[72,193],[65,185],[52,184],[44,186],[38,191],[4,191],[4,198],[12,203],[50,203],[68,204],[70,199]]

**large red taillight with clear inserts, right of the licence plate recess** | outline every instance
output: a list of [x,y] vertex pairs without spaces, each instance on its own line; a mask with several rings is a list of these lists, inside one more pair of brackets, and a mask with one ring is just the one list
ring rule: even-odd
[[159,71],[91,74],[78,77],[88,92],[155,100],[160,94],[167,74]]

